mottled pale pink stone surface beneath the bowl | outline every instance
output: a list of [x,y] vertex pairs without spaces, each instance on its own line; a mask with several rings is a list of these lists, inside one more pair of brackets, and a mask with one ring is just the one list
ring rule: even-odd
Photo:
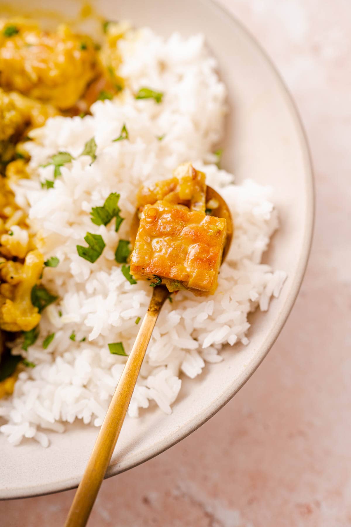
[[[316,177],[312,255],[254,376],[197,432],[105,481],[90,527],[351,525],[351,3],[223,4],[273,58],[302,115]],[[0,502],[0,525],[62,526],[73,495]]]

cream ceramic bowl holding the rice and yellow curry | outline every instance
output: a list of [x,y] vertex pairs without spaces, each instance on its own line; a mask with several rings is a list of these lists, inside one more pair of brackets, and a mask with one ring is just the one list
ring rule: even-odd
[[[25,12],[26,0],[12,0]],[[31,2],[31,9],[77,11],[72,0]],[[205,368],[195,380],[183,379],[173,414],[145,412],[127,418],[108,469],[125,471],[163,452],[214,415],[252,375],[273,345],[301,284],[313,231],[313,176],[306,139],[294,103],[267,56],[242,26],[209,0],[99,0],[107,19],[127,18],[157,33],[202,32],[219,62],[229,92],[223,166],[237,181],[250,177],[272,185],[281,227],[265,260],[288,272],[280,297],[267,313],[255,313],[248,346],[227,346],[225,360]],[[1,9],[0,9],[1,12]],[[1,13],[0,13],[1,14]],[[65,434],[51,434],[51,446],[33,442],[12,447],[0,438],[0,499],[33,496],[78,484],[97,429],[75,424]]]

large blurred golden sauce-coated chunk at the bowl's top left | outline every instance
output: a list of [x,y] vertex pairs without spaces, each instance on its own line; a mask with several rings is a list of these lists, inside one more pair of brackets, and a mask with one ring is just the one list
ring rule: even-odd
[[88,36],[66,25],[45,32],[25,19],[0,20],[0,84],[60,109],[73,106],[97,74]]

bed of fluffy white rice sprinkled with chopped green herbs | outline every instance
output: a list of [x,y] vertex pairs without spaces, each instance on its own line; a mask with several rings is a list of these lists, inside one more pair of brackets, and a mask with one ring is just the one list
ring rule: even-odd
[[[216,157],[211,152],[222,139],[226,88],[218,80],[216,61],[208,54],[203,36],[185,40],[174,34],[163,40],[145,29],[138,40],[122,41],[120,46],[121,75],[128,78],[132,90],[125,90],[121,99],[96,102],[92,116],[57,117],[34,130],[34,141],[27,147],[32,178],[14,187],[32,229],[45,239],[45,258],[59,258],[58,267],[45,268],[43,278],[59,301],[44,310],[40,336],[26,354],[36,367],[22,372],[13,397],[1,401],[0,416],[7,424],[0,432],[14,445],[27,437],[47,446],[43,430],[63,432],[63,423],[75,419],[95,426],[103,421],[125,364],[125,358],[109,353],[108,343],[122,341],[129,353],[139,328],[135,320],[144,316],[152,294],[148,282],[129,284],[114,260],[118,240],[129,236],[135,193],[142,183],[170,177],[179,163],[193,161],[206,172],[208,184],[225,196],[235,235],[214,296],[179,292],[173,304],[166,302],[129,406],[130,416],[137,417],[139,408],[147,408],[151,401],[170,414],[182,374],[195,378],[206,362],[222,360],[219,352],[226,343],[247,344],[247,314],[257,306],[268,309],[285,280],[283,271],[260,264],[278,225],[269,201],[271,190],[253,181],[236,186],[233,175],[213,164]],[[143,86],[164,92],[163,102],[135,100],[133,92]],[[124,123],[129,140],[112,142]],[[164,139],[158,140],[163,134]],[[78,155],[93,136],[97,159],[90,164],[89,157]],[[53,179],[53,166],[40,165],[58,151],[70,152],[76,159],[62,167],[53,189],[42,189],[39,181]],[[89,216],[92,207],[101,206],[111,192],[121,194],[125,221],[118,233],[113,221],[107,227],[96,226]],[[94,264],[77,254],[76,245],[86,245],[87,231],[99,233],[106,243]],[[75,341],[69,338],[73,331]],[[43,349],[44,338],[53,332],[55,338]],[[21,341],[13,353],[24,353]]]

